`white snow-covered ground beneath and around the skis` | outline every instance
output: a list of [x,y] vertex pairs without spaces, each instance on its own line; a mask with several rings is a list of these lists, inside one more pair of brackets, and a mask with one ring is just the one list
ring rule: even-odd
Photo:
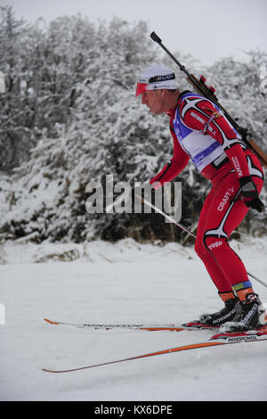
[[[247,270],[266,282],[267,242],[251,239],[232,246]],[[182,323],[221,308],[192,249],[129,239],[86,245],[17,241],[2,244],[0,260],[1,400],[267,400],[267,341],[70,374],[42,371],[205,341],[211,332],[101,331],[43,320]],[[267,303],[267,289],[253,283]]]

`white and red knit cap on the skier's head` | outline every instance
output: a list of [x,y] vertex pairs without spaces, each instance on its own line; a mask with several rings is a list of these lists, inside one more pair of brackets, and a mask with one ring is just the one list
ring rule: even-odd
[[144,70],[141,77],[138,78],[135,96],[146,90],[158,89],[178,89],[178,83],[175,80],[174,71],[156,64]]

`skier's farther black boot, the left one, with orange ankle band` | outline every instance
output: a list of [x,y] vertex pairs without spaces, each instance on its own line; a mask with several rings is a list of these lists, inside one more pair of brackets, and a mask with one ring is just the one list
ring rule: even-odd
[[224,307],[213,314],[203,314],[198,318],[198,322],[211,327],[220,327],[226,322],[231,322],[237,316],[239,300],[233,292],[218,292],[224,302]]

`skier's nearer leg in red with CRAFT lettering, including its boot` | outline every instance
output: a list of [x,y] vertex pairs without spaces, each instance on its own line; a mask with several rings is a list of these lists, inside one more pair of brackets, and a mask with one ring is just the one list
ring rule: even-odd
[[[263,187],[263,178],[253,178],[260,193]],[[234,317],[235,321],[224,326],[224,330],[228,331],[258,328],[266,325],[267,322],[263,305],[253,290],[246,268],[228,243],[232,231],[239,226],[248,210],[245,203],[238,197],[239,182],[235,174],[230,173],[215,189],[213,203],[206,212],[204,234],[206,249],[212,253],[239,300],[239,312]],[[221,217],[218,212],[222,212]],[[231,321],[230,318],[228,320]]]

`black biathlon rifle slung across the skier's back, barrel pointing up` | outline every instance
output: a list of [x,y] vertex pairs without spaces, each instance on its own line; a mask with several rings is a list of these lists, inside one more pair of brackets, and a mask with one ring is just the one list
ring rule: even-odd
[[171,57],[171,59],[178,65],[181,71],[183,71],[186,76],[187,80],[190,82],[192,86],[195,87],[195,89],[198,91],[199,94],[206,97],[206,99],[213,102],[215,105],[218,106],[218,108],[223,111],[223,115],[226,119],[229,120],[231,125],[239,132],[240,136],[242,137],[243,142],[249,147],[253,152],[255,152],[258,159],[261,161],[264,168],[267,168],[267,155],[263,152],[263,150],[255,144],[255,141],[253,139],[248,139],[247,136],[250,134],[248,133],[247,128],[240,127],[237,123],[237,119],[231,118],[231,115],[226,111],[226,109],[223,108],[223,105],[219,103],[218,98],[215,95],[215,89],[213,86],[206,86],[206,78],[204,76],[200,76],[200,78],[196,78],[194,74],[190,74],[188,70],[185,69],[184,65],[182,65],[172,53],[166,48],[165,45],[162,44],[160,37],[155,32],[152,32],[150,34],[151,39],[153,41],[157,42],[159,46]]

